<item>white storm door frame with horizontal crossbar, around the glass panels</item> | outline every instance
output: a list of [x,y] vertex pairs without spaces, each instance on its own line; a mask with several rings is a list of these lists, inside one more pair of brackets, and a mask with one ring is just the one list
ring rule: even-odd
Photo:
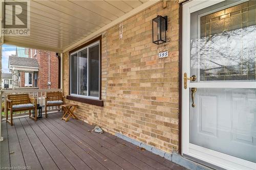
[[255,88],[256,82],[205,82],[190,83],[187,81],[187,89],[184,89],[184,72],[190,77],[190,13],[223,2],[215,1],[189,1],[182,6],[182,155],[188,155],[204,162],[226,169],[256,169],[256,163],[237,157],[223,154],[214,150],[189,143],[189,87],[204,88]]

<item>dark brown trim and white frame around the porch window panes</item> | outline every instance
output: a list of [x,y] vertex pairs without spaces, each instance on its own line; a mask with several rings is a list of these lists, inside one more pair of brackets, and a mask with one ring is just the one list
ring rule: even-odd
[[[79,94],[73,94],[71,93],[71,55],[73,54],[78,54],[80,51],[91,47],[93,45],[99,45],[99,97],[94,97],[94,96],[84,96],[84,95],[79,95]],[[88,64],[89,64],[89,50],[87,52],[87,56],[88,56]],[[78,60],[78,55],[77,55],[77,60]],[[77,63],[79,64],[79,63]],[[79,67],[77,67],[77,69],[79,69]],[[87,69],[89,69],[89,67],[87,67]],[[77,70],[77,78],[78,78],[79,74],[78,74],[78,70]],[[87,76],[87,82],[88,82],[89,77]],[[78,79],[77,79],[78,81]],[[78,86],[78,85],[77,85]],[[77,92],[78,92],[77,88]],[[89,86],[87,87],[87,89],[89,89]],[[87,91],[88,92],[88,91]],[[69,95],[67,95],[67,99],[69,100],[73,100],[73,101],[77,101],[77,102],[81,102],[81,103],[88,103],[88,104],[92,104],[92,105],[96,105],[96,106],[103,106],[103,101],[101,100],[101,35],[87,43],[84,43],[76,48],[74,48],[74,50],[69,52]]]

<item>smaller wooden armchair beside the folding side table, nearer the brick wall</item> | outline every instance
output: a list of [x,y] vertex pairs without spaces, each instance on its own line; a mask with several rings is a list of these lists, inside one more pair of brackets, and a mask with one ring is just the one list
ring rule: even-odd
[[46,93],[46,103],[45,103],[45,113],[47,117],[47,107],[49,106],[61,106],[64,104],[64,96],[62,92],[47,92]]

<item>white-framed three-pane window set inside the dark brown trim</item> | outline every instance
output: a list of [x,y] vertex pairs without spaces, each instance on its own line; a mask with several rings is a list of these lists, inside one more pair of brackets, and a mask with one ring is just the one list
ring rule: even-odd
[[70,94],[99,99],[100,43],[70,54]]

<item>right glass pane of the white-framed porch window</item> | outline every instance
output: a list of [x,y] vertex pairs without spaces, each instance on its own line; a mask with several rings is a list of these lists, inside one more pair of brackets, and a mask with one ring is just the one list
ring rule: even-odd
[[99,97],[99,44],[89,47],[90,96]]

